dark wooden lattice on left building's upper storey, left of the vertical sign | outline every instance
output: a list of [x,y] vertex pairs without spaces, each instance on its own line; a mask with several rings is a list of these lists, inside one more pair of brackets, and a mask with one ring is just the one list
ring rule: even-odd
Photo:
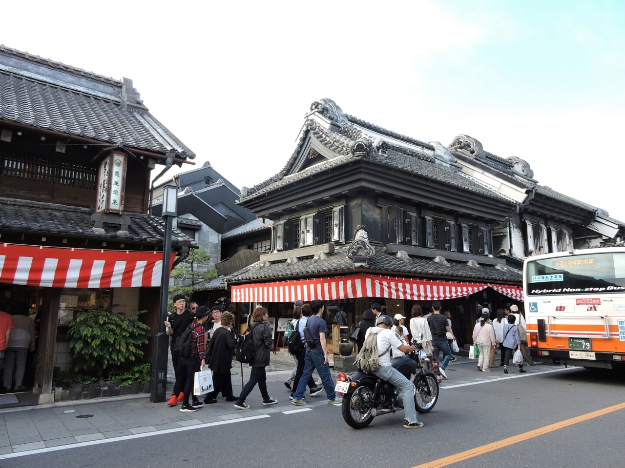
[[2,151],[2,176],[96,190],[98,169],[68,158]]

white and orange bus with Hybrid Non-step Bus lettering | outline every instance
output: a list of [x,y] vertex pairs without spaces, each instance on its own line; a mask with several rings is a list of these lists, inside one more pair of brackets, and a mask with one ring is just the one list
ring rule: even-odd
[[527,258],[523,296],[535,361],[625,368],[625,246]]

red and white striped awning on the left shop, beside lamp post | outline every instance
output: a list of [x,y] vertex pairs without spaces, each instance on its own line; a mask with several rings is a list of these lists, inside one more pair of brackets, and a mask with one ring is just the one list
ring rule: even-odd
[[161,286],[162,269],[163,252],[158,251],[0,243],[0,283],[49,288]]

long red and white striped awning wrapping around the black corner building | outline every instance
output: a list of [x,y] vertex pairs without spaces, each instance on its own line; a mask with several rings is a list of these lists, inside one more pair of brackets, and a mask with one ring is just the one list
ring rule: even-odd
[[517,301],[523,300],[523,290],[518,286],[389,278],[366,273],[314,280],[233,285],[231,286],[231,300],[232,302],[294,302],[299,299],[306,302],[316,299],[335,301],[351,298],[387,298],[435,301],[466,297],[488,287]]

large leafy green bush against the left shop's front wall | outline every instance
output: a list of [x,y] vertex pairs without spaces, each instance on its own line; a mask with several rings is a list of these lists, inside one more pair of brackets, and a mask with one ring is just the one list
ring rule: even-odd
[[138,317],[145,311],[126,317],[113,312],[116,306],[84,311],[69,324],[69,351],[76,372],[83,369],[101,377],[130,369],[143,359],[149,326]]

